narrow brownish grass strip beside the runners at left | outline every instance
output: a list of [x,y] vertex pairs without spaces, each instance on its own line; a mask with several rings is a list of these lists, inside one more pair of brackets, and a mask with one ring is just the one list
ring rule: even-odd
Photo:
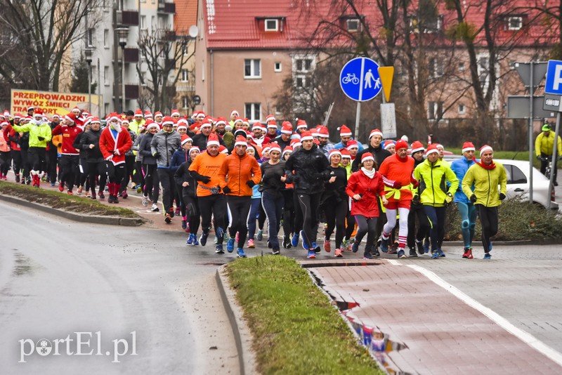
[[37,202],[54,209],[84,213],[93,216],[119,216],[122,218],[141,218],[136,212],[122,207],[107,206],[93,199],[78,197],[76,195],[61,194],[50,190],[37,189],[28,185],[7,183],[0,181],[0,194],[11,195],[26,200]]

